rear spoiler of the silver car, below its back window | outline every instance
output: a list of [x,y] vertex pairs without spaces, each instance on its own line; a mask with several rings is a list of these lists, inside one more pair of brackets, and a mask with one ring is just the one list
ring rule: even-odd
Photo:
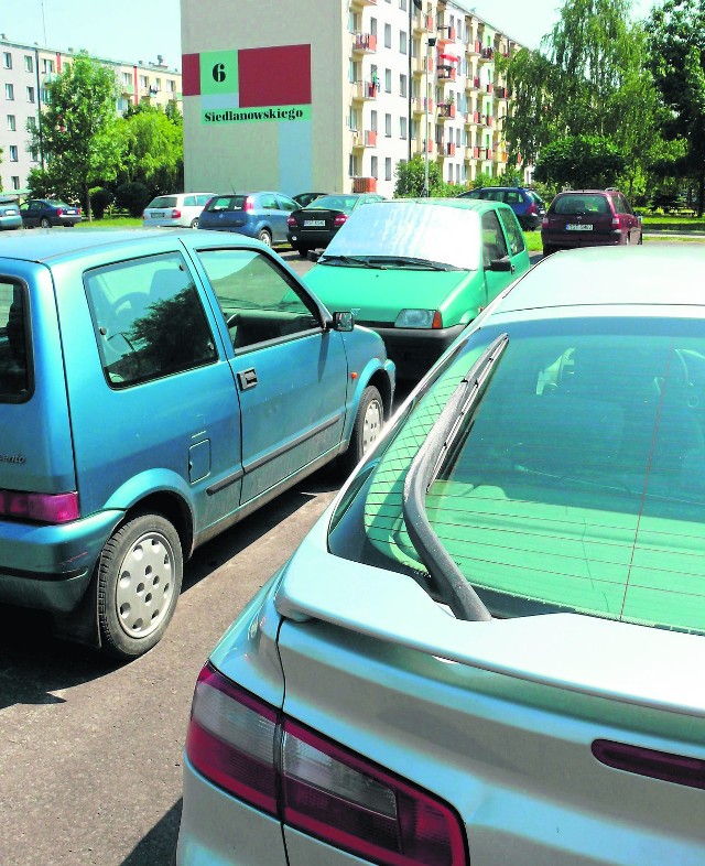
[[285,618],[330,623],[478,670],[705,718],[705,692],[693,681],[705,665],[705,638],[577,614],[456,619],[410,576],[329,553],[334,507],[284,571],[275,606]]

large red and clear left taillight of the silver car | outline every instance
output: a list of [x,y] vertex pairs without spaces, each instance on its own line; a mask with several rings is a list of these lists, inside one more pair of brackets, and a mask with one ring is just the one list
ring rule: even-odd
[[206,665],[186,754],[203,776],[289,826],[383,866],[462,866],[444,802],[282,716]]

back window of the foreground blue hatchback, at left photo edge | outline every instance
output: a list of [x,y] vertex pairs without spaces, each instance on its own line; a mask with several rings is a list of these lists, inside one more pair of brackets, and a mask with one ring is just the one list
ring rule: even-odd
[[0,401],[30,397],[29,321],[25,289],[0,280]]

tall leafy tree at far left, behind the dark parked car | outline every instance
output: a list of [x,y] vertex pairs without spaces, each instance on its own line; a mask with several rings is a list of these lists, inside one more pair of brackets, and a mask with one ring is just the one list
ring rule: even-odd
[[115,177],[121,160],[120,141],[113,134],[115,74],[78,54],[47,88],[48,104],[36,129],[30,130],[32,147],[47,163],[41,174],[58,184],[55,192],[77,191],[90,219],[89,188]]

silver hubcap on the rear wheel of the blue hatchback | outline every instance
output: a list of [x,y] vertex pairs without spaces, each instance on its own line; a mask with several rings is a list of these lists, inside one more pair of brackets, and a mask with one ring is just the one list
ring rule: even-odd
[[126,635],[143,638],[159,627],[173,594],[174,552],[160,532],[141,535],[120,564],[118,621]]

